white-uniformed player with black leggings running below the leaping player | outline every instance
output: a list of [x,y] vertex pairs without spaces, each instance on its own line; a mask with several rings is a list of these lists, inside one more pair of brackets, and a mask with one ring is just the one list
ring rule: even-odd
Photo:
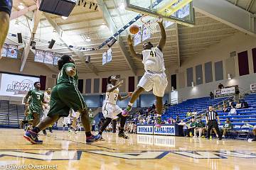
[[124,97],[120,96],[119,86],[122,86],[123,83],[124,81],[120,81],[117,84],[117,78],[114,76],[107,78],[106,98],[102,106],[102,113],[106,120],[100,128],[99,135],[102,135],[102,132],[107,128],[107,125],[109,125],[113,119],[120,118],[120,130],[118,136],[128,139],[128,136],[124,133],[126,117],[122,115],[122,109],[117,106],[117,100],[123,101],[129,98],[129,96],[132,96],[131,93]]

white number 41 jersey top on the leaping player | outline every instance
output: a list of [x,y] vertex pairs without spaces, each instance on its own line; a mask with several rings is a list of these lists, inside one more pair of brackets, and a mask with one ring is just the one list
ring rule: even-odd
[[143,50],[143,61],[145,71],[164,72],[164,55],[158,47],[152,47],[151,50]]

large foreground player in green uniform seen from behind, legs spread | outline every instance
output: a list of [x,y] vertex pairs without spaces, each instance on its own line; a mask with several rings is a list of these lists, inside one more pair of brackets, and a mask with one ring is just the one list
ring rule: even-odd
[[91,144],[100,140],[101,135],[92,135],[90,119],[84,98],[78,91],[78,73],[75,62],[69,55],[63,55],[58,60],[57,85],[53,87],[50,96],[50,111],[46,118],[39,123],[33,130],[26,132],[23,137],[33,144],[43,144],[38,140],[38,132],[46,129],[49,125],[55,123],[60,117],[67,117],[70,114],[70,108],[75,112],[80,112],[82,125],[85,128],[86,143]]

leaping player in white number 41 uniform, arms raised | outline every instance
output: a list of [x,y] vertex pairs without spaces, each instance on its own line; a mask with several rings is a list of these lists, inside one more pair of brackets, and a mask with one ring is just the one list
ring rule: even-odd
[[164,66],[164,45],[166,44],[166,32],[163,26],[163,19],[160,18],[159,27],[161,30],[161,40],[157,47],[153,47],[151,42],[145,42],[143,44],[142,54],[135,52],[133,47],[133,40],[131,35],[128,35],[128,44],[130,52],[132,56],[142,60],[144,64],[145,74],[142,79],[139,81],[137,89],[132,94],[132,98],[129,101],[127,108],[122,112],[122,115],[127,116],[129,111],[132,110],[132,105],[134,101],[139,97],[143,91],[151,91],[153,89],[153,94],[156,96],[156,128],[161,127],[161,113],[163,111],[163,101],[162,98],[164,96],[164,91],[166,86],[168,85],[168,81],[165,74],[165,66]]

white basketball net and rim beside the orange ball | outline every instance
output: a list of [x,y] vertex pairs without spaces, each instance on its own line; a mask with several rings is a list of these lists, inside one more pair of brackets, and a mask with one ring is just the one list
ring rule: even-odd
[[158,28],[157,28],[157,21],[159,18],[154,18],[149,15],[144,15],[142,18],[140,18],[140,21],[142,22],[142,28],[146,27],[149,29],[150,33],[156,33]]

